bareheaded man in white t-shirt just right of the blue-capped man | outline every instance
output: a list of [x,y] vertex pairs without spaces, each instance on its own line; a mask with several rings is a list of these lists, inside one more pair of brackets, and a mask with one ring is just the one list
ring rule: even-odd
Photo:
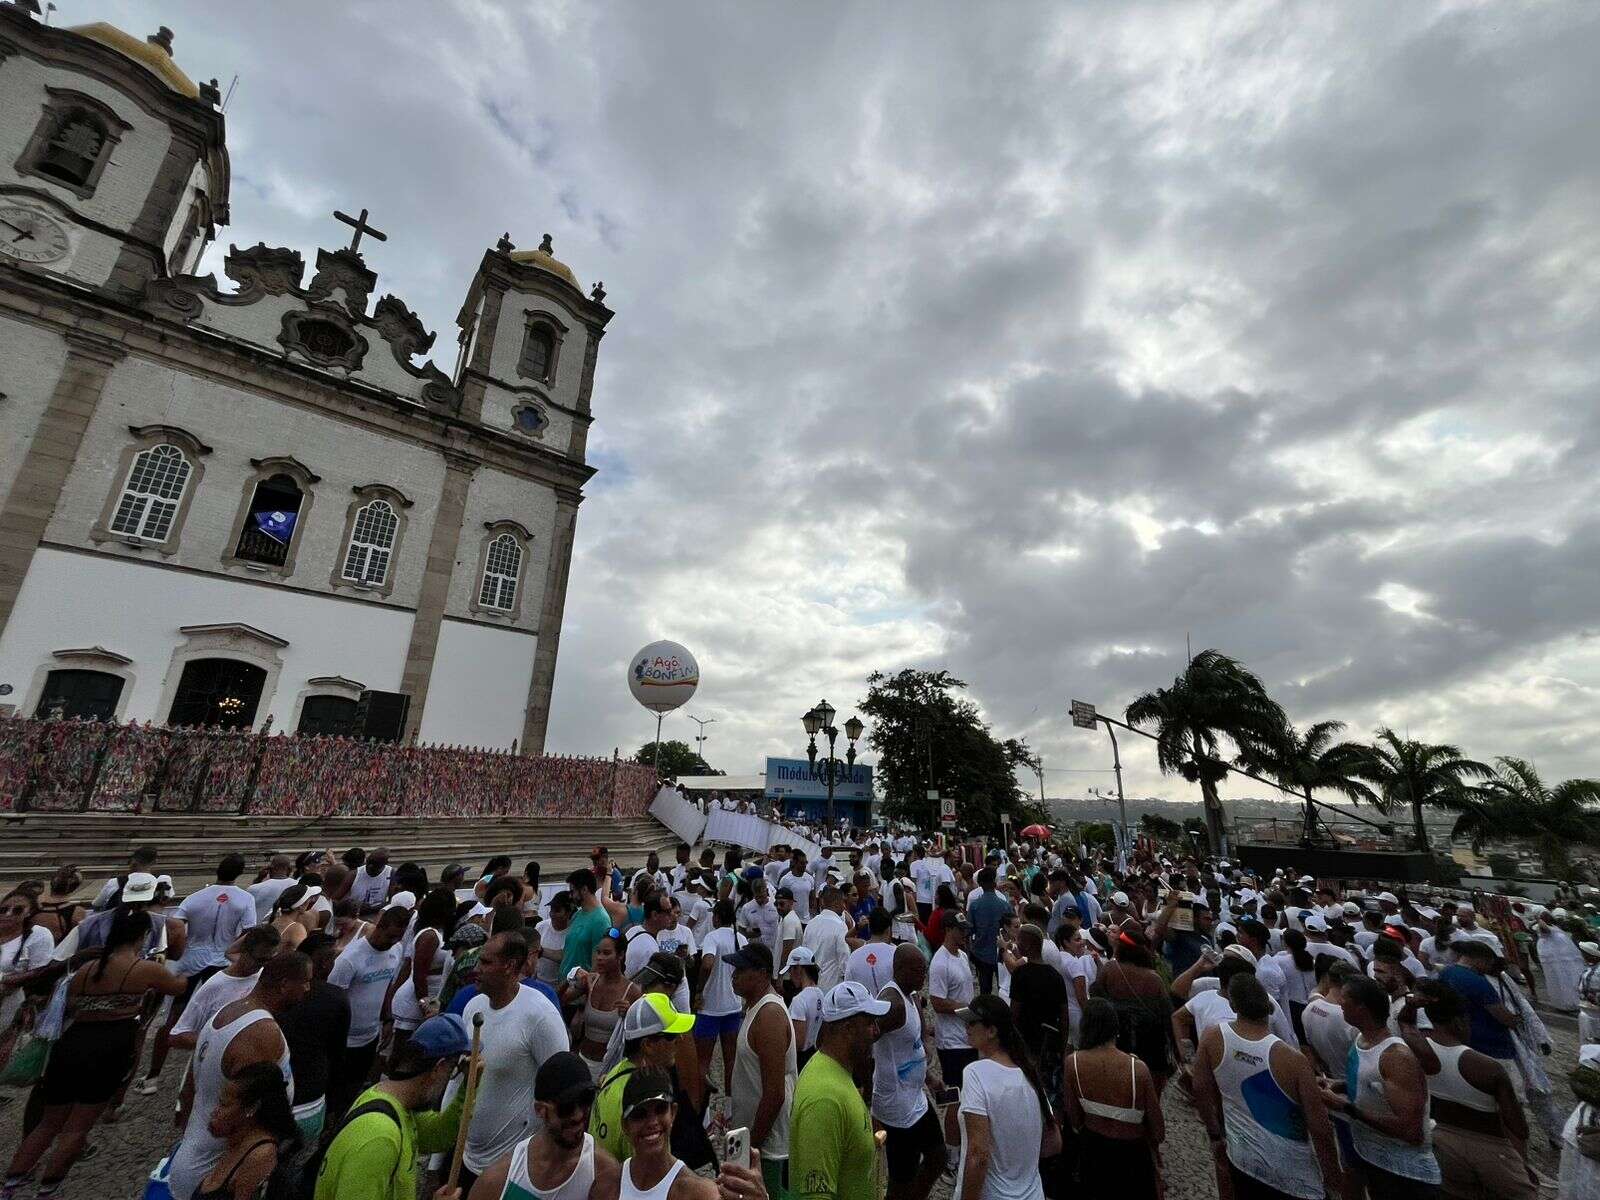
[[522,986],[526,957],[528,942],[520,933],[490,938],[478,955],[478,994],[461,1013],[467,1029],[474,1027],[474,1018],[483,1018],[483,1075],[461,1158],[462,1194],[501,1155],[539,1131],[533,1080],[546,1059],[568,1048],[560,1010]]

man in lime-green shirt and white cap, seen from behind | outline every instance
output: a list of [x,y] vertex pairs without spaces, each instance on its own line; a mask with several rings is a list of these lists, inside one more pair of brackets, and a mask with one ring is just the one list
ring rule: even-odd
[[877,1142],[854,1077],[872,1062],[890,1005],[856,982],[822,997],[816,1054],[795,1085],[790,1182],[805,1200],[875,1200]]

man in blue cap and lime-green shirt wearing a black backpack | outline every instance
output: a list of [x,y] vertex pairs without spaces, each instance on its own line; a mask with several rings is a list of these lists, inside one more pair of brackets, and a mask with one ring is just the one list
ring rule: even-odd
[[[390,1059],[382,1082],[355,1098],[317,1174],[315,1200],[414,1200],[416,1158],[456,1142],[464,1093],[435,1112],[461,1056],[459,1016],[430,1016]],[[584,1077],[587,1078],[587,1070]]]

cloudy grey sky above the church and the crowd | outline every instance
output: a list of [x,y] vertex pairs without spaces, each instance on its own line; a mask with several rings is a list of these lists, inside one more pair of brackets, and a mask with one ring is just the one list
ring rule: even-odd
[[365,205],[446,347],[501,230],[605,280],[555,750],[646,741],[624,664],[670,637],[734,773],[902,666],[1091,771],[1069,696],[1120,710],[1189,635],[1296,720],[1600,773],[1592,5],[58,19],[240,75],[224,243]]

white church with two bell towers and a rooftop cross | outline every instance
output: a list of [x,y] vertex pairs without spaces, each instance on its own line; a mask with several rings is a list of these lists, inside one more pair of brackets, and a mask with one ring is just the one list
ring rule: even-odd
[[544,749],[605,291],[501,237],[440,366],[336,216],[197,274],[216,80],[0,0],[0,714]]

